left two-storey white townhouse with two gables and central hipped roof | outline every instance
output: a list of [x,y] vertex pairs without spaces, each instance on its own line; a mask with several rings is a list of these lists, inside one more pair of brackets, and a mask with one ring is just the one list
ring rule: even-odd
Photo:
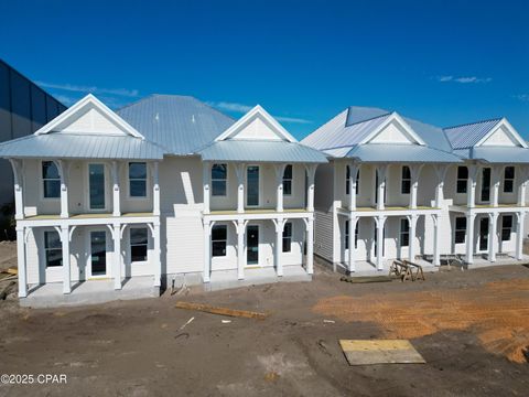
[[235,121],[186,96],[112,111],[88,95],[0,157],[15,178],[21,298],[97,279],[159,291],[171,277],[313,272],[314,174],[326,158],[259,106]]

